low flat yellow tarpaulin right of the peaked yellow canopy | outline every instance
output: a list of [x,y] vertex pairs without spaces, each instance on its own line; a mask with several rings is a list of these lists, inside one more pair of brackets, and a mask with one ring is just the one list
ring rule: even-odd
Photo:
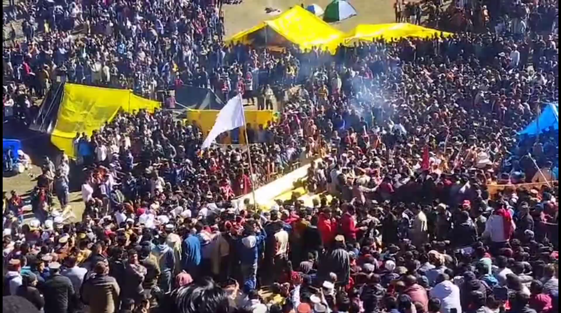
[[452,33],[430,29],[427,27],[413,25],[408,23],[389,23],[389,24],[361,24],[346,34],[344,38],[345,45],[352,45],[357,40],[371,41],[375,39],[401,39],[401,38],[430,38],[435,35],[451,36]]

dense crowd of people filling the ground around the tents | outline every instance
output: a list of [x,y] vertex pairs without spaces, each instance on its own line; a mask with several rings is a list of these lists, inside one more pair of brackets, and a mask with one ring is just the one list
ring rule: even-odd
[[[279,114],[247,125],[249,148],[201,151],[197,121],[167,111],[121,112],[76,134],[74,161],[42,161],[35,219],[22,224],[22,197],[4,192],[4,310],[558,311],[558,130],[517,135],[558,102],[557,2],[496,1],[484,31],[334,55],[225,45],[211,1],[52,3],[20,8],[44,35],[4,50],[5,89],[25,84],[23,98],[64,68],[63,79],[123,77],[145,95],[192,84],[267,107],[276,98]],[[513,13],[521,6],[531,10]],[[494,27],[496,12],[534,26]],[[66,40],[76,21],[89,36]],[[304,164],[297,183],[319,195],[313,205],[238,199]],[[52,212],[54,197],[68,205],[71,176],[85,202],[77,223]]]

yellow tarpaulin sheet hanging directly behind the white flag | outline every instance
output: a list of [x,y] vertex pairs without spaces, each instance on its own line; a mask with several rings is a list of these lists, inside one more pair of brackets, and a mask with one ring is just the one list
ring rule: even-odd
[[[197,125],[201,128],[203,132],[203,136],[206,137],[212,127],[214,126],[214,122],[216,121],[216,116],[218,115],[218,110],[187,110],[187,121],[192,123],[195,121]],[[245,111],[243,112],[246,119],[246,124],[250,123],[251,128],[257,130],[259,124],[263,124],[263,128],[267,126],[267,122],[273,121],[273,111]],[[240,136],[240,144],[245,144],[245,136],[243,136],[243,127],[240,129],[239,136]],[[229,132],[231,134],[231,132]],[[220,136],[217,140],[222,144],[231,144],[232,137],[231,135],[228,136]]]

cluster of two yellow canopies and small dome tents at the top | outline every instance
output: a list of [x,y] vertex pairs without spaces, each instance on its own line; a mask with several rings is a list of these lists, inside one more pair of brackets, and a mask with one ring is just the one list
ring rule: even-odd
[[[319,17],[322,14],[323,20]],[[342,0],[335,0],[325,8],[325,11],[317,4],[311,4],[307,8],[295,6],[273,20],[263,21],[251,29],[241,31],[232,36],[229,41],[257,47],[284,47],[287,43],[292,43],[302,49],[319,47],[335,53],[341,44],[352,46],[360,41],[452,35],[408,23],[363,24],[356,26],[349,33],[343,33],[327,23],[347,19],[353,15],[356,15],[355,9]]]

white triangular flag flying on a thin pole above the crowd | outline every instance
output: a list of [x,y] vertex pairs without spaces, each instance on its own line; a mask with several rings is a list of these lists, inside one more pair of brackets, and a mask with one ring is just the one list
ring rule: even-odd
[[210,144],[216,140],[218,135],[225,131],[233,130],[234,128],[245,125],[245,116],[243,116],[242,96],[238,94],[230,99],[226,105],[218,112],[214,126],[206,136],[201,149],[208,148]]

